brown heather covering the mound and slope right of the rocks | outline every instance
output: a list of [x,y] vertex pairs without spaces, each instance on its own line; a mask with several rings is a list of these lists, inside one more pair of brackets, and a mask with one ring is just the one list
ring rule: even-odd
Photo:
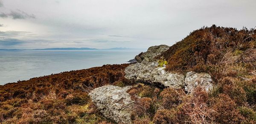
[[[154,92],[149,89],[143,91],[143,96],[157,98],[157,102],[147,103],[155,109],[154,115],[148,116],[151,123],[256,123],[255,29],[238,31],[236,28],[215,25],[201,28],[172,45],[157,59],[168,61],[167,71],[209,73],[214,79],[215,89],[206,93],[198,87],[190,95],[171,88],[160,90],[159,95],[152,95]],[[140,96],[142,90],[138,89],[147,90],[143,87],[130,90],[129,93]],[[137,109],[134,111],[140,111],[141,104],[135,106]],[[136,114],[136,122],[145,120],[142,113]]]

